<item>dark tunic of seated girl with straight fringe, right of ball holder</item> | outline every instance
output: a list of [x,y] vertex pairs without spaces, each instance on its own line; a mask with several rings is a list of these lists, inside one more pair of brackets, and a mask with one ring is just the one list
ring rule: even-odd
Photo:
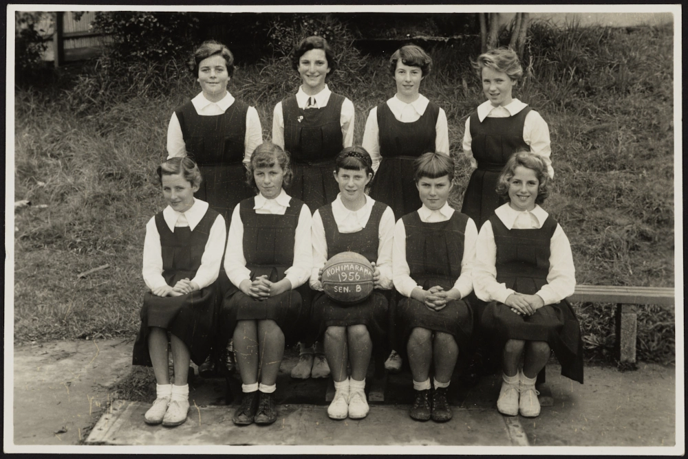
[[[468,216],[454,212],[447,221],[424,223],[418,212],[411,212],[402,220],[411,278],[424,290],[436,285],[444,291],[451,290],[461,275]],[[464,300],[451,300],[440,311],[431,311],[422,302],[404,297],[396,307],[396,325],[401,339],[399,347],[403,350],[416,327],[449,333],[460,349],[466,350],[473,330],[473,313]]]

